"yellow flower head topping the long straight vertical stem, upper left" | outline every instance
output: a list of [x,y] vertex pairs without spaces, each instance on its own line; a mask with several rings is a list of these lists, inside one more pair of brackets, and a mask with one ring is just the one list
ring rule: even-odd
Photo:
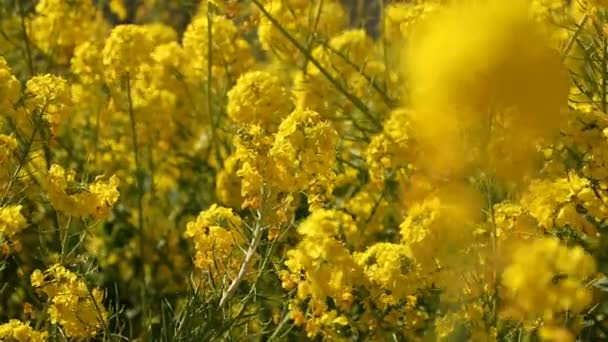
[[146,29],[137,25],[118,25],[112,29],[101,52],[108,81],[137,76],[142,63],[149,61],[153,42]]

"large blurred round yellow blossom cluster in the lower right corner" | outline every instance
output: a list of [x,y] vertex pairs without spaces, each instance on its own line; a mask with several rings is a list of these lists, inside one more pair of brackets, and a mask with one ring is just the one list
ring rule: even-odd
[[595,269],[595,260],[580,246],[567,247],[555,238],[526,243],[502,275],[508,312],[546,322],[566,311],[580,313],[591,303],[585,282]]

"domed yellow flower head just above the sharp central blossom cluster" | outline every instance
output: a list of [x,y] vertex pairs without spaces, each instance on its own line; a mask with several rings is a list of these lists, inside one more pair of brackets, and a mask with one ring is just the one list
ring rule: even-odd
[[235,121],[260,125],[270,131],[291,112],[287,89],[266,71],[250,71],[228,92],[226,112]]

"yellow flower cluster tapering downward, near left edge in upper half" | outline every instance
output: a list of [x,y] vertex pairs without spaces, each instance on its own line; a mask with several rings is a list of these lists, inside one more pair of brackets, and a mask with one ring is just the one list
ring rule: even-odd
[[34,76],[25,84],[25,91],[29,109],[42,113],[51,132],[58,134],[60,125],[67,121],[72,109],[68,82],[52,74]]

